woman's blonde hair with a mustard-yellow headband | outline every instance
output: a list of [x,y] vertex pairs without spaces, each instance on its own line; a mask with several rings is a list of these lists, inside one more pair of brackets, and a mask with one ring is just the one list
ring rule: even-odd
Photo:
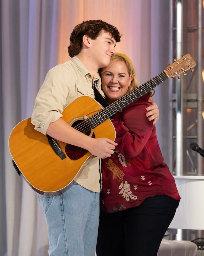
[[[129,76],[132,74],[133,78],[131,81],[131,84],[128,88],[127,94],[130,93],[130,91],[134,90],[135,88],[137,88],[137,77],[136,77],[136,72],[135,69],[132,65],[131,60],[128,58],[128,56],[126,56],[123,53],[115,53],[114,55],[111,56],[111,61],[109,63],[109,65],[105,68],[101,68],[99,69],[99,74],[101,75],[102,73],[104,73],[107,69],[109,69],[109,67],[111,67],[113,64],[115,64],[118,61],[123,61],[127,67],[128,70],[128,74]],[[154,91],[154,90],[153,90]],[[154,95],[154,92],[152,93],[151,91],[149,91],[147,93],[150,97]]]

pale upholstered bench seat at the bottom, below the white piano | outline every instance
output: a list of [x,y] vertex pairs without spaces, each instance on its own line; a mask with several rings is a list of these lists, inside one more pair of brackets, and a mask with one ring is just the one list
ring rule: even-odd
[[196,256],[198,247],[190,241],[163,239],[157,256]]

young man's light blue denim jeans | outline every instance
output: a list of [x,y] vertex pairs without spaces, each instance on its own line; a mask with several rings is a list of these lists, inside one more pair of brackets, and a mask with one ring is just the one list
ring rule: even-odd
[[99,193],[73,182],[62,195],[37,195],[45,212],[49,256],[95,256]]

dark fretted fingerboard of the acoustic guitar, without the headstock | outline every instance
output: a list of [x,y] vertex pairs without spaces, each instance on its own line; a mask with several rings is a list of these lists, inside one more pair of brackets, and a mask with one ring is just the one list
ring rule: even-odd
[[120,110],[124,109],[126,106],[130,105],[133,101],[139,99],[152,89],[154,89],[157,85],[164,82],[169,77],[163,71],[162,73],[156,75],[146,83],[140,85],[136,89],[132,90],[130,93],[124,95],[120,99],[116,100],[114,103],[108,105],[106,108],[101,109],[96,114],[92,115],[87,119],[89,125],[94,129],[105,120],[119,112]]

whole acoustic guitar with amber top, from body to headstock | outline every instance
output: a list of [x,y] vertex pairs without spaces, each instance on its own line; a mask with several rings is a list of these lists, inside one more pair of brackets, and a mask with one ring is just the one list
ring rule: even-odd
[[[63,119],[75,129],[94,138],[115,140],[115,129],[109,119],[133,101],[170,77],[196,65],[190,54],[182,56],[160,74],[140,85],[105,108],[88,97],[75,99],[63,110]],[[57,141],[34,130],[31,118],[17,124],[9,138],[13,165],[28,184],[40,194],[63,193],[79,173],[91,153],[83,148]]]

